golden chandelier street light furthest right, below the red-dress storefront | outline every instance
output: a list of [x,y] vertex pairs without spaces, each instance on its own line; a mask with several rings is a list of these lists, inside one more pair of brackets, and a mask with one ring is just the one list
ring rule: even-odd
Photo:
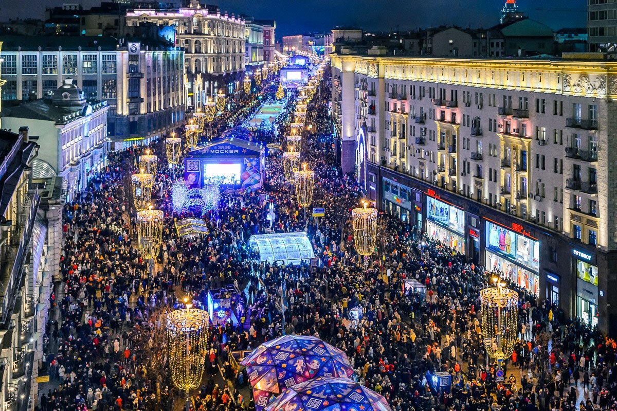
[[512,355],[518,332],[518,293],[505,288],[496,275],[495,287],[480,290],[484,348],[498,362]]

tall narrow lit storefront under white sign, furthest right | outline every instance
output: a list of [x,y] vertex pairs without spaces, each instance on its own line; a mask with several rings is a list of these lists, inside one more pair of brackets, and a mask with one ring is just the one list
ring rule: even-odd
[[598,267],[595,255],[578,249],[572,251],[576,273],[576,316],[591,326],[598,323]]

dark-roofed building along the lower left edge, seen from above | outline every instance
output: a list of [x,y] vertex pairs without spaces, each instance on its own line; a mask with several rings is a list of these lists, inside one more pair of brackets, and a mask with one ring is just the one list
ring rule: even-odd
[[[62,249],[62,204],[52,201],[60,197],[57,181],[32,181],[38,144],[28,128],[12,133],[1,127],[0,411],[26,411],[38,399],[36,376]],[[46,209],[39,212],[41,197]]]

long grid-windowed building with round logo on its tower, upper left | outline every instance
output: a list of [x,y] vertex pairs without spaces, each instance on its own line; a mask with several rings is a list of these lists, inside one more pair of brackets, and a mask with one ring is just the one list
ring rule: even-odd
[[155,39],[0,36],[2,99],[51,96],[70,77],[88,100],[109,104],[112,149],[169,133],[184,117],[184,51]]

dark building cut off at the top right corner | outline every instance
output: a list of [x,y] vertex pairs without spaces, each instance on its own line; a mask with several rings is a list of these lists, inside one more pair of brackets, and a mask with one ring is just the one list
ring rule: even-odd
[[589,51],[617,45],[617,2],[587,0],[587,42]]

